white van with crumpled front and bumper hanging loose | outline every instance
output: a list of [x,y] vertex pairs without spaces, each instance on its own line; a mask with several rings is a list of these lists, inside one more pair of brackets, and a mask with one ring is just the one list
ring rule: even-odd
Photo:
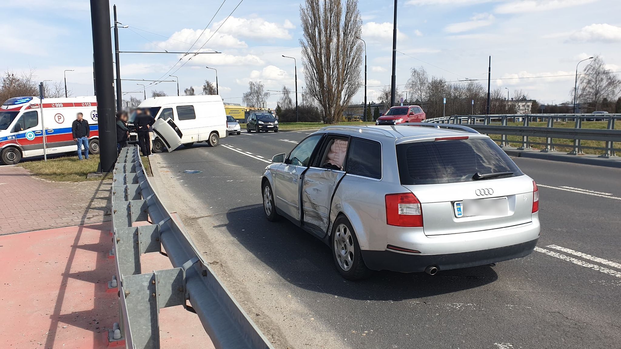
[[155,117],[153,152],[172,152],[179,145],[207,142],[215,147],[227,137],[227,115],[222,98],[212,96],[165,96],[147,98],[138,108]]

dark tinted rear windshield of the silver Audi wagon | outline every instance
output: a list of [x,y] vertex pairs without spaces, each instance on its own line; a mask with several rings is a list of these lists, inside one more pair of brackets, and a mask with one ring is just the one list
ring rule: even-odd
[[404,185],[468,182],[477,172],[524,174],[489,138],[398,144],[397,164]]

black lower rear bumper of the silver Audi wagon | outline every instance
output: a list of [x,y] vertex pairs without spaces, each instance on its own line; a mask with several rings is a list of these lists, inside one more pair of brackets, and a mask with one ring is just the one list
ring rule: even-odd
[[427,266],[433,265],[438,270],[469,268],[471,266],[487,265],[500,261],[520,258],[533,252],[539,239],[518,243],[516,245],[490,248],[472,252],[448,253],[445,255],[416,255],[413,253],[399,253],[389,250],[371,251],[362,250],[362,258],[371,270],[391,270],[401,273],[420,273]]

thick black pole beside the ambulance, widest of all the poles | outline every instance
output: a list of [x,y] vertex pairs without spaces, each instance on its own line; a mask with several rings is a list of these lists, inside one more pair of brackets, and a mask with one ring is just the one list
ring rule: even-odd
[[[93,53],[99,127],[98,172],[111,172],[117,159],[114,89],[112,88],[112,35],[110,34],[110,2],[91,0]],[[119,86],[120,87],[120,86]]]

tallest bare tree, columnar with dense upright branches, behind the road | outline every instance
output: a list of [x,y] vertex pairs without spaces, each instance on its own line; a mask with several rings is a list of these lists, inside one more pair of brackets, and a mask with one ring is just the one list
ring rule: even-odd
[[360,89],[363,44],[358,0],[306,0],[300,6],[306,88],[323,109],[324,123],[343,116]]

